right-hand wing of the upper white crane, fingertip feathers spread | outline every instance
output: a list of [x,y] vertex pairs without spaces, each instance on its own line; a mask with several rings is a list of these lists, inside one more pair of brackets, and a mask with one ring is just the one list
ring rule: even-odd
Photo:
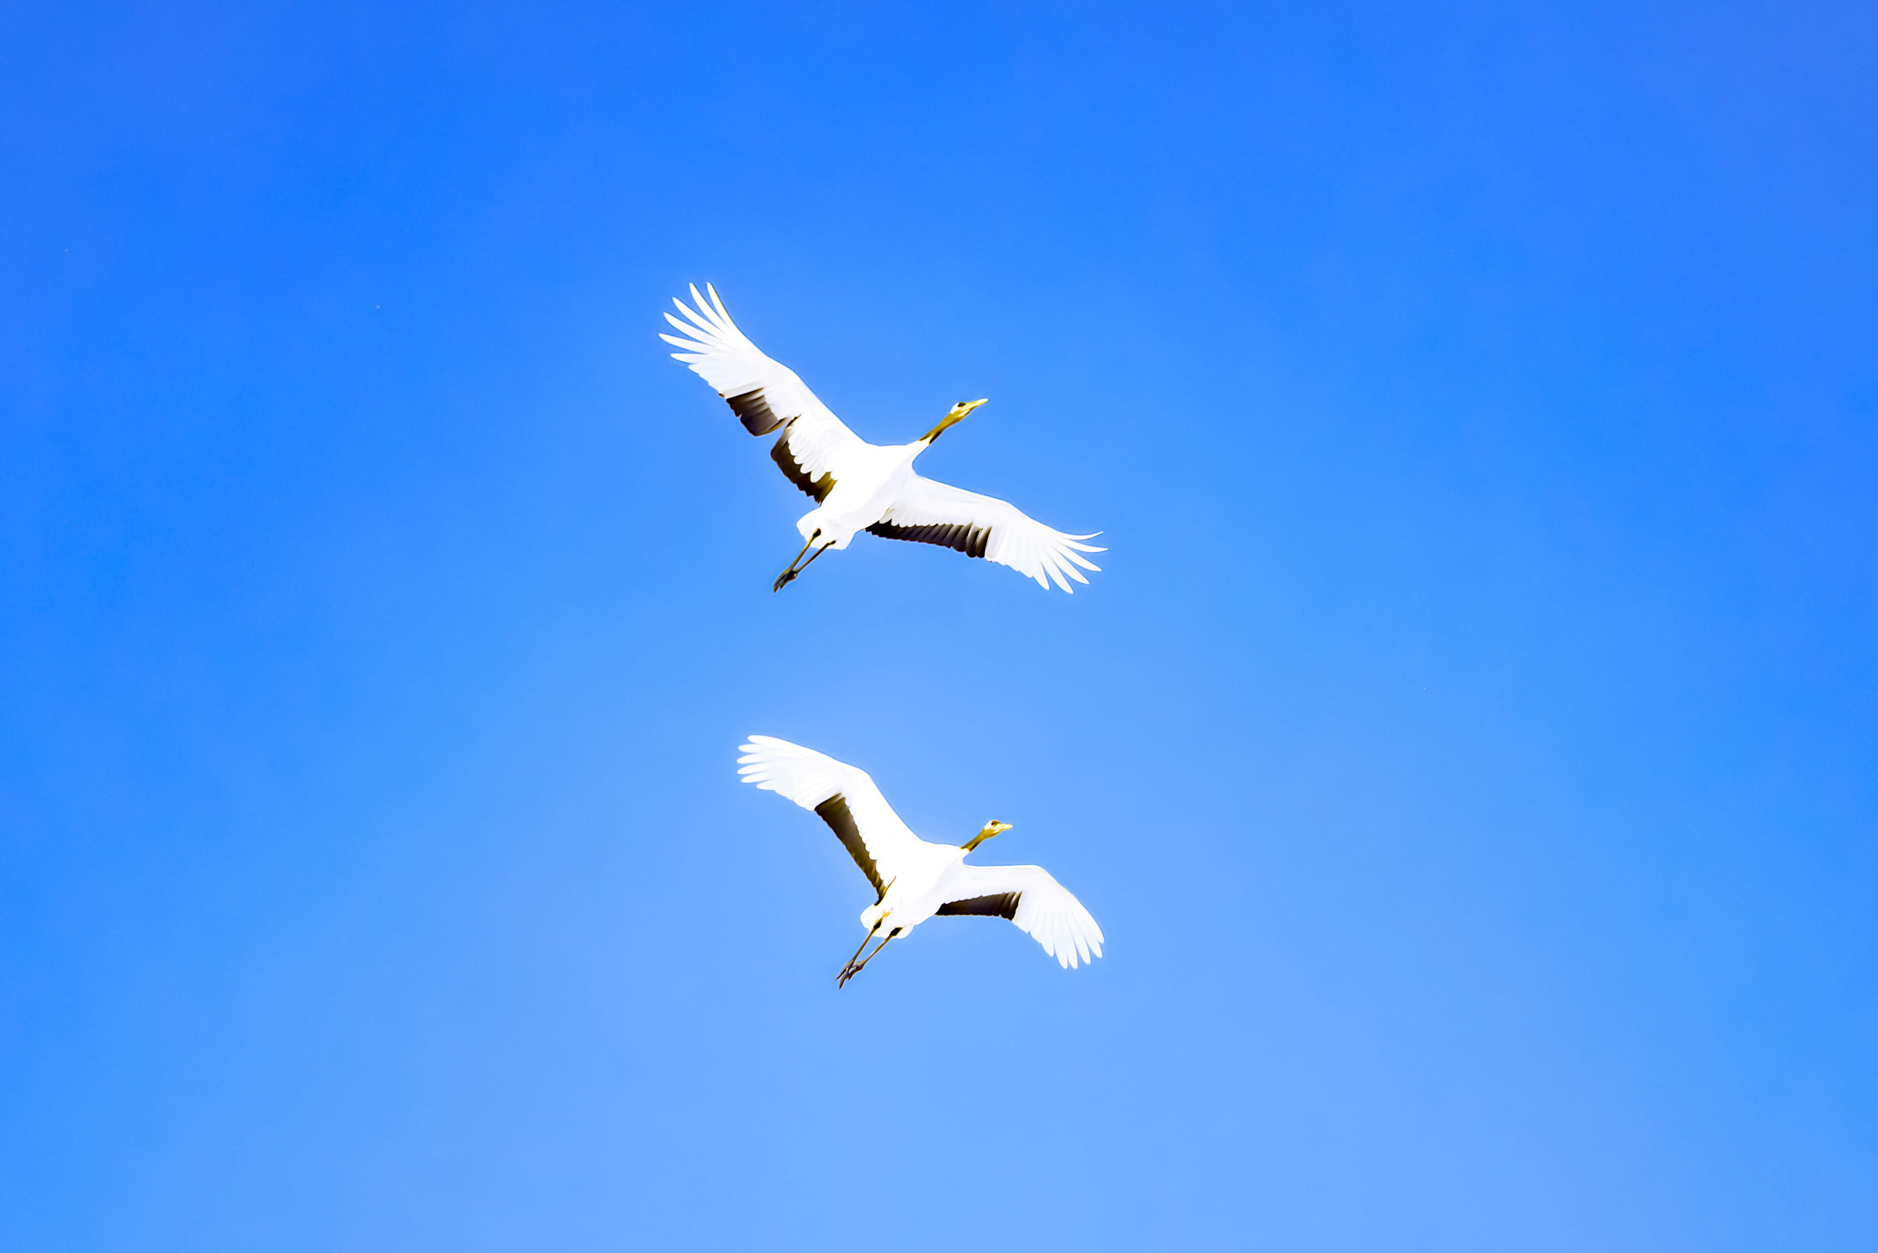
[[868,530],[886,539],[916,539],[958,549],[965,556],[990,558],[1035,579],[1046,592],[1050,580],[1044,575],[1055,579],[1065,592],[1072,588],[1063,575],[1089,582],[1076,565],[1101,569],[1082,554],[1104,552],[1082,543],[1095,535],[1065,535],[995,496],[978,496],[918,473],[907,479],[894,505]]

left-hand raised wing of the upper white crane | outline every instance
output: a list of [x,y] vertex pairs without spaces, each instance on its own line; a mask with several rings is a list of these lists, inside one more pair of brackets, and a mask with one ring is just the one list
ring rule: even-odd
[[841,455],[860,445],[860,436],[817,400],[794,370],[764,357],[762,349],[736,329],[731,314],[723,312],[716,287],[706,284],[704,289],[710,291],[708,301],[697,284],[691,284],[691,301],[697,308],[672,301],[685,321],[665,316],[665,321],[687,338],[665,333],[659,338],[684,349],[672,357],[691,366],[731,402],[744,430],[766,436],[777,426],[783,428],[776,447],[770,449],[770,458],[791,483],[821,503],[834,490]]

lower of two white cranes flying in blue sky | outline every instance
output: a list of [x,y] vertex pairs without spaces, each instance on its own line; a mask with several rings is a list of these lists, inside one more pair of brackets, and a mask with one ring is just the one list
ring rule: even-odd
[[[1010,830],[1010,823],[986,823],[958,847],[931,843],[900,821],[881,789],[858,766],[768,735],[749,736],[749,744],[738,751],[744,753],[736,759],[744,781],[813,810],[834,828],[879,894],[860,911],[860,924],[868,934],[841,967],[836,986],[858,975],[890,941],[933,915],[1010,919],[1065,969],[1102,956],[1102,928],[1048,870],[965,862],[967,853]],[[862,958],[860,951],[875,936],[881,936],[879,947]]]

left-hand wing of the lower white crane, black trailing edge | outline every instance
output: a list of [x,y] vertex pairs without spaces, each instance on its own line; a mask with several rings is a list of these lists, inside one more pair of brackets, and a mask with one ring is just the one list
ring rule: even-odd
[[873,885],[875,902],[909,864],[909,855],[926,843],[915,836],[868,772],[836,761],[813,748],[802,748],[768,735],[749,736],[738,748],[738,774],[746,783],[794,800],[813,810],[847,845],[860,872]]

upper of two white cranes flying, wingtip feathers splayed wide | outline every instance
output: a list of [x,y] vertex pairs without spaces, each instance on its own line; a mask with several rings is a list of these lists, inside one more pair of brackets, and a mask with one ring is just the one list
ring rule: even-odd
[[[828,549],[845,549],[858,532],[982,556],[1035,579],[1046,592],[1052,579],[1070,592],[1065,575],[1089,582],[1078,565],[1101,569],[1082,556],[1104,550],[1082,543],[1095,535],[1065,535],[1003,500],[913,473],[913,458],[984,400],[960,400],[913,443],[868,443],[817,400],[794,370],[751,344],[723,310],[717,289],[708,284],[706,289],[710,301],[697,284],[691,286],[697,308],[672,301],[684,321],[665,316],[684,338],[663,333],[659,338],[682,349],[672,357],[716,387],[749,434],[783,430],[770,458],[791,483],[815,498],[815,509],[796,522],[802,552],[776,577],[774,592],[781,592]],[[809,554],[809,549],[815,552]]]

